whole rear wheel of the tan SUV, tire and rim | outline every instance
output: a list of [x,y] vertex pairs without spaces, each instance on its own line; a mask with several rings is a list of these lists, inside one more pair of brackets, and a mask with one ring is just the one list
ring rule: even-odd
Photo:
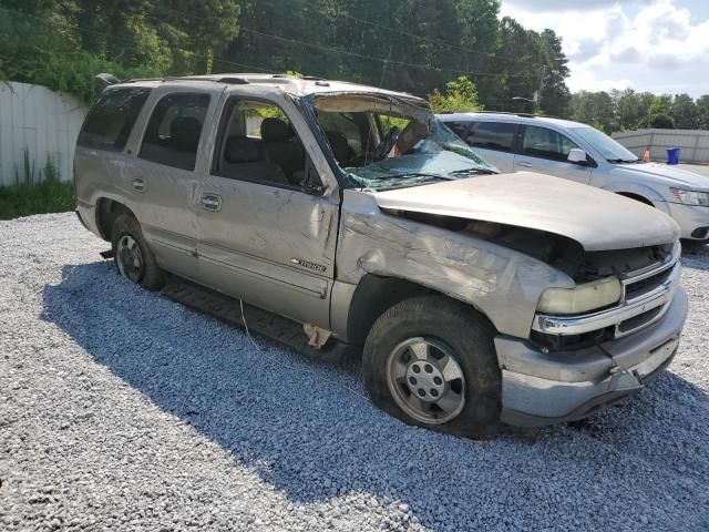
[[147,290],[160,290],[165,274],[145,242],[141,225],[131,214],[120,214],[111,232],[113,257],[119,273]]

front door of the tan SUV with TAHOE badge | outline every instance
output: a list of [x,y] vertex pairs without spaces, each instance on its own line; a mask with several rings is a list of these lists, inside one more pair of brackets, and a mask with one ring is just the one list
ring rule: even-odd
[[[330,328],[339,202],[316,188],[319,176],[300,141],[312,135],[287,101],[225,102],[212,165],[198,188],[202,282],[301,323]],[[297,120],[291,120],[297,119]]]

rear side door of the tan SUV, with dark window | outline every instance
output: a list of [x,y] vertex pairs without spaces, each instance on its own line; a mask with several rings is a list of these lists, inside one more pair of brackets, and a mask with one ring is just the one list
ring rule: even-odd
[[178,275],[197,276],[195,168],[205,122],[218,98],[194,86],[162,86],[145,106],[125,168],[135,215],[157,262]]

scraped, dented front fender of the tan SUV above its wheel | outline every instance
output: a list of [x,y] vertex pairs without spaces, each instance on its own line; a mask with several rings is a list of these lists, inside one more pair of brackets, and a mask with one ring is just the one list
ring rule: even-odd
[[547,264],[476,238],[382,213],[369,194],[346,191],[338,280],[357,285],[367,274],[398,277],[464,301],[506,335],[530,335],[542,293],[573,287]]

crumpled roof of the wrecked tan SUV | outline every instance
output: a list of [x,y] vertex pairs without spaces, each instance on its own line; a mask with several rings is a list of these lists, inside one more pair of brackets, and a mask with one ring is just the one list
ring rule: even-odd
[[379,89],[370,85],[361,85],[359,83],[350,83],[347,81],[333,81],[322,78],[315,78],[306,75],[302,78],[288,75],[288,74],[260,74],[260,73],[223,73],[210,75],[186,75],[181,78],[145,78],[126,80],[121,83],[116,83],[112,86],[124,85],[129,83],[188,83],[188,82],[206,82],[230,85],[255,85],[270,89],[280,89],[289,94],[304,96],[307,94],[315,94],[319,92],[368,92],[387,94],[391,96],[398,96],[408,100],[412,103],[424,104],[428,106],[428,102],[421,98],[414,96],[405,92],[388,91],[386,89]]

